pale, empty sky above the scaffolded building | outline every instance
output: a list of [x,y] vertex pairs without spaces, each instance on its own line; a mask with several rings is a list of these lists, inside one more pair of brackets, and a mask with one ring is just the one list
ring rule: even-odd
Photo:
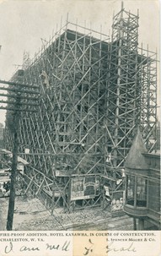
[[[132,14],[139,10],[139,45],[159,52],[159,0],[124,0]],[[22,65],[23,53],[35,56],[42,40],[68,20],[110,35],[113,14],[121,0],[0,0],[0,79],[9,80]],[[62,21],[61,21],[62,20]],[[159,67],[158,67],[159,68]],[[0,123],[5,112],[0,110]]]

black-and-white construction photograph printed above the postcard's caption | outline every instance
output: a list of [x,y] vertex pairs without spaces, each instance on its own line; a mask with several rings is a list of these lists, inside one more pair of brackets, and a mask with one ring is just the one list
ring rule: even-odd
[[0,1],[0,231],[160,230],[159,5]]

